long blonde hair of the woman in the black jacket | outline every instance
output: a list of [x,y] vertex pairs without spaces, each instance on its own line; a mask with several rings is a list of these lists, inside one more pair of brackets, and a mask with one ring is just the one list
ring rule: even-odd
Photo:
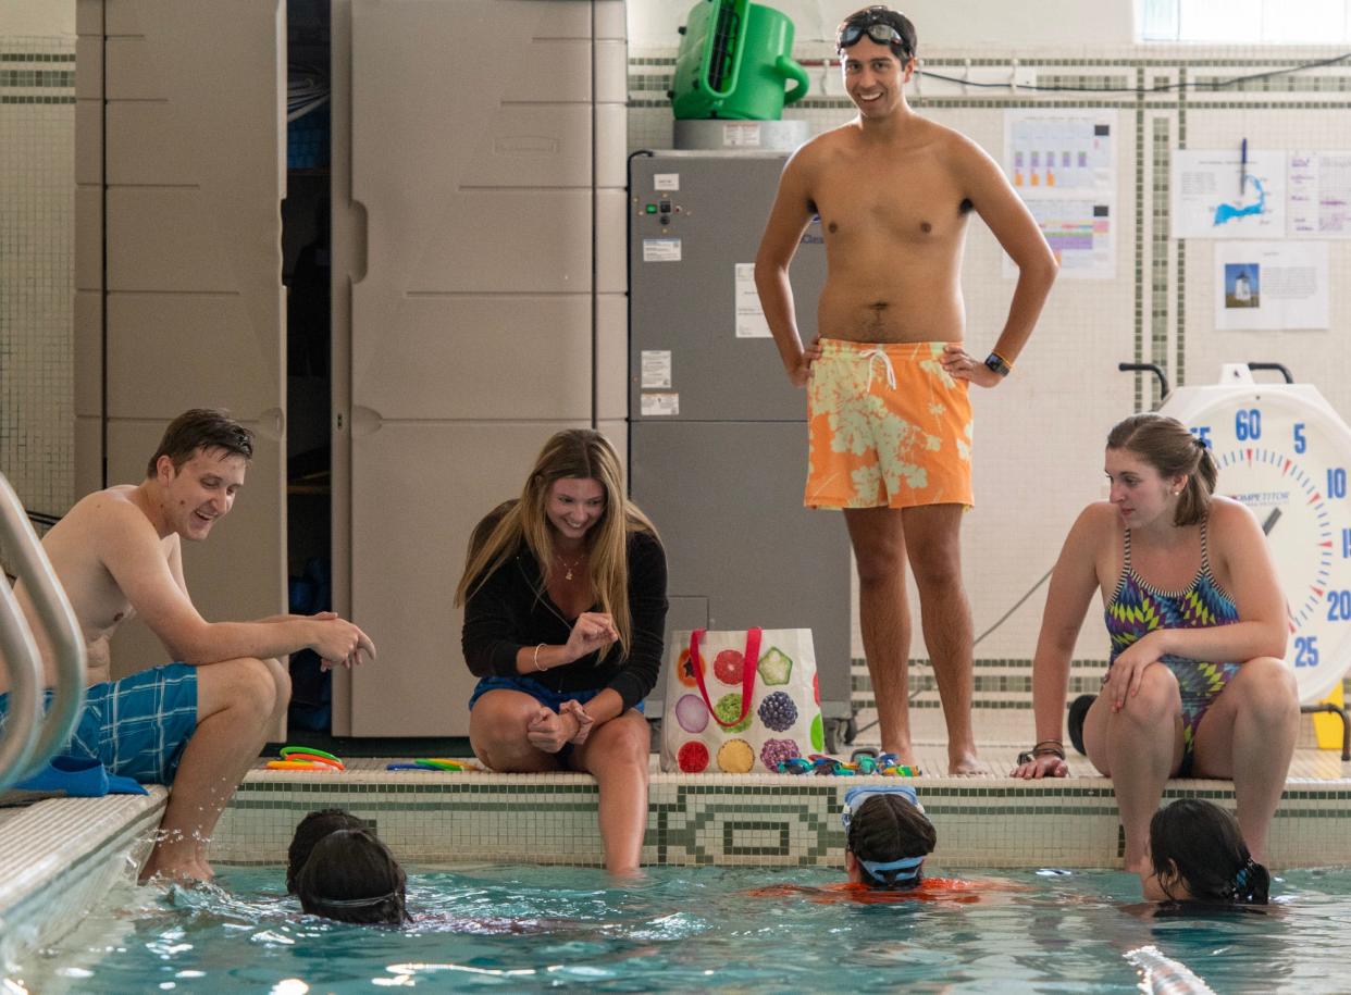
[[[600,432],[589,428],[569,428],[544,443],[534,470],[526,478],[520,498],[497,509],[501,514],[496,522],[489,516],[474,529],[469,540],[465,574],[455,589],[455,606],[469,601],[515,555],[523,541],[539,564],[540,586],[536,597],[543,594],[549,564],[554,560],[554,529],[546,508],[554,481],[561,479],[592,479],[605,491],[605,510],[586,532],[590,551],[586,570],[592,590],[600,601],[600,610],[615,620],[619,630],[616,645],[620,652],[627,652],[632,637],[632,620],[628,616],[628,533],[647,532],[658,537],[657,528],[628,500],[615,447]],[[616,645],[604,656],[615,652]]]

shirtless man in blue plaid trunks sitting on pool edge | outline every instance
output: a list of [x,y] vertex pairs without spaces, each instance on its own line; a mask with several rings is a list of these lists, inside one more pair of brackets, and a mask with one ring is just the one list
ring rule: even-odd
[[[197,614],[181,541],[205,539],[230,512],[251,456],[247,428],[222,412],[185,412],[165,432],[145,481],[89,494],[42,540],[89,652],[88,698],[62,752],[173,784],[142,880],[211,878],[211,832],[290,698],[290,678],[276,657],[309,648],[332,666],[376,655],[361,629],[332,613],[257,622]],[[132,612],[180,663],[109,682],[108,640]],[[51,648],[34,629],[50,686]],[[9,690],[5,678],[0,668],[0,691]],[[8,703],[0,694],[0,728]]]

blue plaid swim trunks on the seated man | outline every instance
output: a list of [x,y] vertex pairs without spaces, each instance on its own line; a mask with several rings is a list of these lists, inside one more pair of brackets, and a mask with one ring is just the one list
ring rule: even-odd
[[[0,733],[8,713],[9,695],[0,694]],[[142,784],[172,784],[196,729],[197,668],[170,663],[88,687],[74,734],[59,752],[99,760],[109,774]]]

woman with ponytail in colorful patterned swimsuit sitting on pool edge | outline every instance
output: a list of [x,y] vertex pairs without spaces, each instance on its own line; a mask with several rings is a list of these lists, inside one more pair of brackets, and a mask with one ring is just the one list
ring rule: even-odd
[[1213,493],[1215,460],[1175,419],[1117,424],[1106,475],[1111,501],[1084,509],[1051,575],[1032,666],[1038,743],[1013,775],[1069,774],[1070,657],[1098,591],[1112,662],[1084,744],[1116,788],[1127,869],[1151,873],[1150,818],[1175,776],[1232,778],[1243,838],[1266,863],[1300,718],[1266,536],[1247,508]]

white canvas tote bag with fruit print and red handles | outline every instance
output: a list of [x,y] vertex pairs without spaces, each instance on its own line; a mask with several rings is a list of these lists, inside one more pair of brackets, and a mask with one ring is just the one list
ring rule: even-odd
[[667,663],[663,771],[778,774],[823,749],[811,629],[676,632]]

